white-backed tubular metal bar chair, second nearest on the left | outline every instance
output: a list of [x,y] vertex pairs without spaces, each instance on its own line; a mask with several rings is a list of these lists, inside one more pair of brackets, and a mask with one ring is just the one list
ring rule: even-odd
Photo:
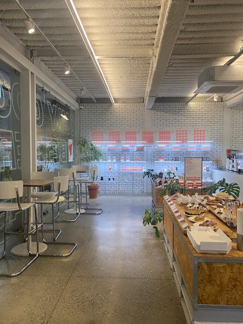
[[62,196],[61,193],[62,192],[68,192],[69,189],[69,176],[61,176],[61,177],[54,177],[54,190],[57,191],[57,195],[56,196],[52,196],[52,197],[42,197],[39,198],[35,201],[35,204],[39,204],[41,207],[41,220],[42,220],[42,206],[43,205],[52,205],[52,222],[48,223],[45,222],[43,224],[52,224],[52,237],[53,237],[53,241],[52,242],[47,242],[44,239],[44,231],[43,231],[43,227],[42,227],[42,239],[45,243],[50,243],[50,244],[63,244],[63,245],[71,245],[71,249],[69,250],[68,253],[66,254],[40,254],[42,256],[70,256],[72,254],[72,252],[76,249],[77,247],[77,243],[71,243],[71,242],[56,242],[56,239],[59,237],[59,235],[57,237],[55,237],[55,215],[54,215],[54,205],[57,204],[58,205],[58,215],[60,213],[60,203],[64,202],[66,200],[65,196]]

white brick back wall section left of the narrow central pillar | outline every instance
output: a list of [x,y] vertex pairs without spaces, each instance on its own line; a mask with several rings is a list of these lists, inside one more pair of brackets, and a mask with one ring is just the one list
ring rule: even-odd
[[[84,109],[80,110],[80,136],[89,140],[91,140],[91,130],[97,127],[118,129],[144,127],[143,103],[115,103],[114,105],[89,103],[83,106]],[[116,155],[117,161],[120,160],[119,149],[110,155],[111,159],[113,155]],[[107,160],[107,153],[104,160]],[[126,163],[126,166],[128,164]],[[132,163],[131,166],[135,167]],[[122,172],[121,164],[116,162],[99,162],[98,167],[97,182],[100,184],[101,193],[142,194],[144,192],[142,172]]]

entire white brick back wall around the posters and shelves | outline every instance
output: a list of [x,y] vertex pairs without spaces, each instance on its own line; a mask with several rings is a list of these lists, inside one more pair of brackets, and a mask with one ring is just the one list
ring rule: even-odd
[[[83,104],[84,109],[80,110],[80,136],[91,140],[91,129],[102,128],[144,128],[144,105],[143,103],[119,103],[111,104]],[[232,133],[231,144],[243,149],[243,109],[231,108],[231,127],[237,129],[238,134]],[[223,157],[223,134],[224,134],[224,111],[223,102],[196,102],[196,103],[155,103],[152,108],[152,127],[186,127],[203,128],[210,127],[212,150],[206,153],[194,153],[194,156],[203,156],[208,161],[214,158]],[[229,121],[230,122],[230,121]],[[240,138],[239,138],[240,137]],[[235,147],[236,148],[236,147]],[[153,159],[153,152],[152,159]],[[185,153],[177,153],[178,159],[184,160]],[[174,153],[173,153],[174,156]],[[168,158],[173,157],[168,153]],[[190,154],[192,156],[192,154]],[[149,157],[148,157],[149,159]],[[222,161],[223,162],[223,161]],[[182,164],[181,164],[182,165]],[[211,166],[213,163],[211,163]],[[148,165],[147,165],[148,166]],[[146,166],[146,167],[147,167]],[[149,165],[151,166],[151,165]],[[159,167],[155,169],[159,169]],[[100,191],[102,193],[144,193],[149,191],[142,181],[142,173],[118,172],[118,164],[112,165],[112,172],[103,163],[99,165],[100,176],[104,175],[104,180],[100,180]],[[106,170],[107,169],[107,170]],[[158,171],[158,170],[157,170]],[[179,170],[178,170],[179,172]],[[207,176],[207,172],[205,174]],[[208,172],[210,176],[210,172]],[[111,180],[107,180],[110,178]],[[114,178],[114,180],[113,180]]]

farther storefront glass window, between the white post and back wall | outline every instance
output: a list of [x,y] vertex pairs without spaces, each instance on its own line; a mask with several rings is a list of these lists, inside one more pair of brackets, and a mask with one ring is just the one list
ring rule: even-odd
[[74,160],[74,135],[74,111],[37,85],[37,171],[70,168]]

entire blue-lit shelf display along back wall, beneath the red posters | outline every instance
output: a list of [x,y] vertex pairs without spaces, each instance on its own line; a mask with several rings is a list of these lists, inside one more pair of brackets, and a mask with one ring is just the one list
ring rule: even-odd
[[[150,193],[150,181],[145,181],[143,171],[172,171],[184,175],[185,157],[203,158],[203,187],[212,182],[213,142],[154,142],[99,141],[96,144],[104,157],[99,167],[98,183],[101,193]],[[195,185],[196,187],[196,185]]]

